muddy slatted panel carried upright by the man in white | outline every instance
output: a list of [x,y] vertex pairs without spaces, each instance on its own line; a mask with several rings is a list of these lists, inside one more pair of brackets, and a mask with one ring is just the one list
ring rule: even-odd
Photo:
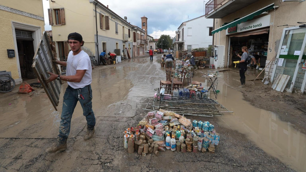
[[45,79],[49,77],[47,72],[51,72],[57,75],[61,75],[58,65],[53,63],[52,60],[56,60],[50,42],[47,36],[47,32],[43,32],[43,36],[40,39],[39,46],[35,51],[33,58],[32,69],[36,74],[39,82],[43,86],[43,89],[47,93],[53,107],[57,110],[59,103],[59,95],[61,93],[62,82],[60,80],[54,80],[52,82],[46,83]]

